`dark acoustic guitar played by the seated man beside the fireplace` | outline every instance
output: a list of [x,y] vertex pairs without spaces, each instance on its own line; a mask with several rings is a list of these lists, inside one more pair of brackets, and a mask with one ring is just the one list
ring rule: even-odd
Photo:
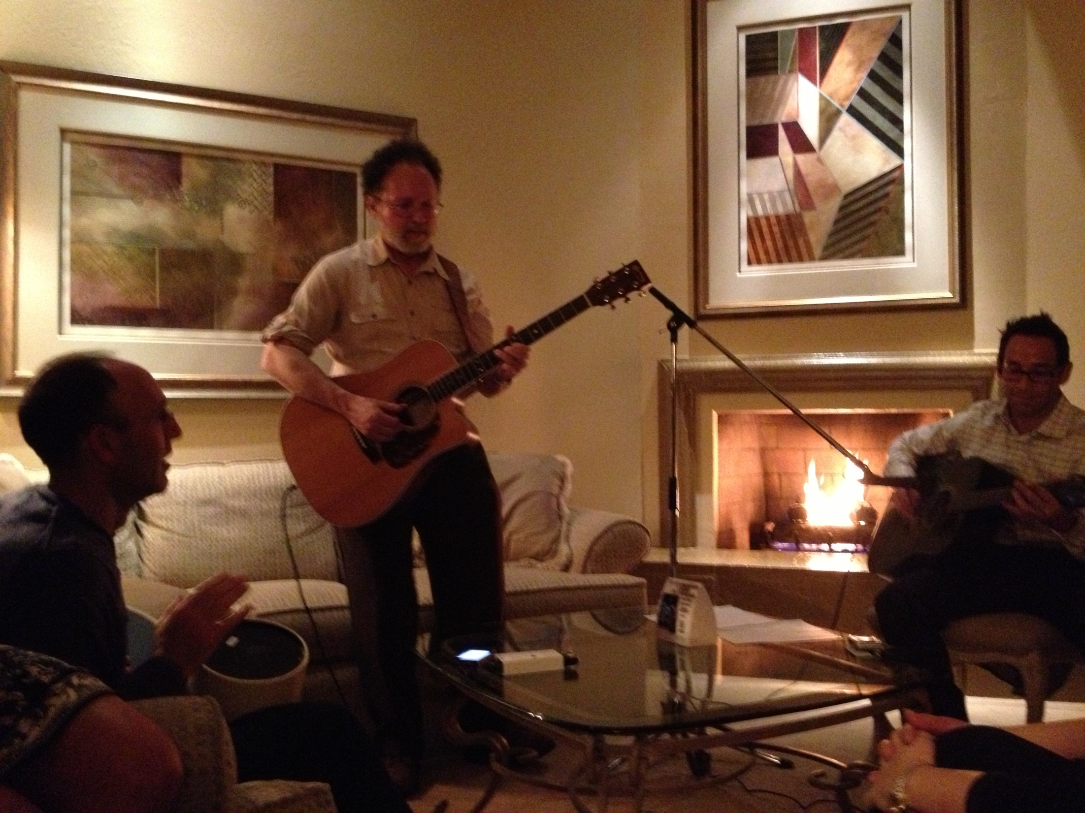
[[[891,503],[878,520],[867,567],[872,573],[895,576],[914,556],[933,556],[961,539],[993,537],[1009,515],[1000,504],[1010,496],[1013,475],[980,457],[957,452],[920,457],[914,478],[885,478],[894,486],[919,491],[915,517]],[[1068,508],[1085,507],[1085,477],[1075,476],[1046,488]]]

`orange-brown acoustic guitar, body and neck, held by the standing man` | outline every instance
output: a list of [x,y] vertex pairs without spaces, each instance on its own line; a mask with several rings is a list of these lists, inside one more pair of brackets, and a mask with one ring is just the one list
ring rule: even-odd
[[584,294],[457,365],[443,345],[417,341],[374,370],[336,376],[355,395],[403,404],[407,426],[374,442],[337,412],[297,396],[282,413],[279,436],[297,487],[332,525],[371,522],[395,505],[419,472],[442,452],[465,442],[474,427],[462,412],[464,393],[501,361],[495,350],[531,345],[592,306],[611,305],[649,285],[634,260],[597,280]]

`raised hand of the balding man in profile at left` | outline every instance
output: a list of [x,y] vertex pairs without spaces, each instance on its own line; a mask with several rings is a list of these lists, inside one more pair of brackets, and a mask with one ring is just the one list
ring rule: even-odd
[[154,625],[155,655],[169,658],[191,678],[253,605],[233,609],[248,590],[240,576],[218,573],[174,599]]

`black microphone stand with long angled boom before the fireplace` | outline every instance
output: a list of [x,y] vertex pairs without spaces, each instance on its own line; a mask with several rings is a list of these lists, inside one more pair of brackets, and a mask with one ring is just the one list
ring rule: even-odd
[[822,429],[810,418],[803,414],[802,410],[795,406],[788,398],[780,392],[776,387],[766,382],[761,375],[751,370],[745,363],[722,344],[716,341],[716,339],[710,336],[697,323],[697,320],[690,317],[686,311],[675,305],[671,299],[668,299],[659,288],[654,285],[650,285],[648,293],[654,296],[663,307],[671,311],[671,319],[667,321],[667,330],[671,332],[671,477],[667,482],[667,509],[671,514],[671,571],[669,576],[672,578],[677,577],[678,571],[678,387],[677,387],[677,374],[678,374],[678,331],[682,326],[687,326],[693,330],[704,338],[710,345],[716,348],[719,352],[730,359],[735,365],[741,370],[743,373],[753,378],[758,385],[761,385],[773,398],[787,406],[795,417],[800,418],[804,424],[810,427],[814,431],[820,435],[825,440],[835,449],[838,452],[843,454],[847,460],[852,461],[859,469],[863,472],[863,478],[859,480],[865,486],[894,486],[894,487],[907,487],[915,486],[914,477],[882,477],[881,475],[876,475],[870,470],[861,460],[859,460],[854,453],[845,449],[832,435]]

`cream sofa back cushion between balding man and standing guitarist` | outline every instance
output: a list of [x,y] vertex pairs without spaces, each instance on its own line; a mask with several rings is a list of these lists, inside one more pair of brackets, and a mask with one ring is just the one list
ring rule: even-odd
[[339,578],[332,528],[281,460],[174,466],[169,488],[137,511],[149,579],[182,588],[220,570],[281,579],[294,563],[304,579]]

